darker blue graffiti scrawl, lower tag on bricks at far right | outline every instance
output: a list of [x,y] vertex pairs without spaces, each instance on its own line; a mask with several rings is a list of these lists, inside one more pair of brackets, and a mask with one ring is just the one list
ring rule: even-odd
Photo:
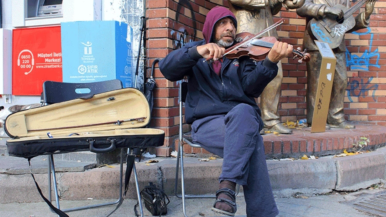
[[375,91],[378,89],[378,84],[373,84],[369,86],[372,79],[372,77],[369,78],[366,83],[364,83],[363,78],[361,78],[361,82],[359,82],[358,80],[353,80],[351,81],[351,83],[347,83],[347,86],[349,87],[347,88],[347,97],[349,98],[350,102],[354,102],[351,96],[359,98],[362,95],[362,97],[364,98],[365,92],[370,90],[372,90],[372,99],[376,101]]

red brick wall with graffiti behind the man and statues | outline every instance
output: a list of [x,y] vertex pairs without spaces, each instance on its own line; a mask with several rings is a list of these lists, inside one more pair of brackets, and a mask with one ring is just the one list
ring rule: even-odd
[[[226,0],[147,0],[147,73],[152,62],[164,58],[173,49],[186,42],[203,38],[205,15],[216,5],[228,7]],[[361,8],[363,10],[364,7]],[[355,15],[355,14],[354,14]],[[281,41],[301,47],[305,31],[305,19],[295,10],[275,16],[284,18],[278,27]],[[369,29],[356,34],[346,34],[347,70],[349,75],[345,97],[346,119],[363,124],[386,125],[386,2],[376,2]],[[306,117],[306,65],[292,58],[283,59],[283,83],[279,113],[281,121],[299,120]],[[156,65],[157,66],[157,65]],[[151,127],[165,131],[164,146],[157,147],[158,156],[169,156],[178,139],[178,85],[163,78],[158,68],[154,73],[157,88],[154,90],[154,109]],[[259,99],[257,99],[259,102]],[[189,130],[184,125],[183,131]],[[185,150],[205,153],[205,150]]]

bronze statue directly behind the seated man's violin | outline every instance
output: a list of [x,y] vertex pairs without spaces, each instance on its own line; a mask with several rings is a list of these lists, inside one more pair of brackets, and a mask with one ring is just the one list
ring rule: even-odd
[[[274,24],[272,16],[278,14],[282,6],[294,9],[301,7],[304,2],[305,0],[229,0],[229,9],[234,13],[238,22],[236,33],[256,34]],[[272,29],[262,36],[278,38],[278,32]],[[264,122],[261,134],[268,130],[283,134],[292,133],[291,129],[280,123],[278,114],[281,81],[283,80],[281,61],[278,67],[278,75],[266,86],[260,97],[261,118]]]

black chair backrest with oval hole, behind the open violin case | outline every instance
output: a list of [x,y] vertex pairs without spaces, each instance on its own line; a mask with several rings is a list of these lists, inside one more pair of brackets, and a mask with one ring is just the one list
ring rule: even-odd
[[123,88],[122,81],[118,79],[91,83],[44,81],[42,99],[44,105],[49,105],[76,98],[91,98],[95,94],[121,88]]

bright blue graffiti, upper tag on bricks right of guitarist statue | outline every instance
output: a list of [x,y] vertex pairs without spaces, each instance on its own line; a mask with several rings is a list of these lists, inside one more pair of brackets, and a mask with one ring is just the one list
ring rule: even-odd
[[[354,34],[357,35],[364,35],[368,34],[370,32],[370,28],[367,27],[367,32],[364,33],[359,33],[359,32],[353,32]],[[369,46],[369,51],[371,51],[372,47],[372,38],[374,34],[370,34],[370,46]],[[352,70],[369,70],[369,66],[375,66],[377,68],[381,68],[379,66],[378,61],[379,61],[379,53],[378,48],[376,48],[373,52],[369,52],[367,50],[364,51],[361,57],[355,55],[355,54],[350,54],[349,50],[346,48],[346,66],[351,66]],[[376,64],[371,64],[370,63],[370,58],[376,57]]]

